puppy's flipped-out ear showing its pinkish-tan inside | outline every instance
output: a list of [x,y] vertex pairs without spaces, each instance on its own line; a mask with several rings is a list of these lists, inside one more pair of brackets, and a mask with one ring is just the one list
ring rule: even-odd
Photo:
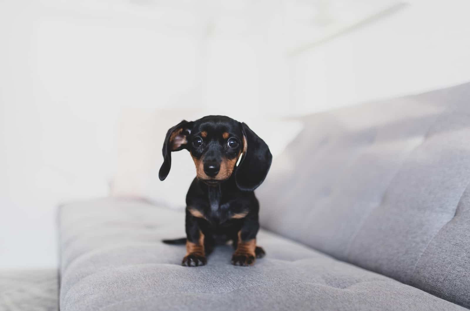
[[163,164],[158,172],[158,178],[164,180],[172,167],[172,151],[187,149],[188,136],[191,133],[193,122],[181,121],[166,132],[163,143]]

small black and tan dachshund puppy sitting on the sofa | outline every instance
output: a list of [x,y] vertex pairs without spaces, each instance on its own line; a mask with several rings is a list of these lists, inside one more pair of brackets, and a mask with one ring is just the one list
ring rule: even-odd
[[259,205],[253,190],[271,166],[268,146],[248,125],[229,117],[183,120],[166,133],[160,180],[170,172],[172,151],[182,149],[196,164],[196,178],[186,195],[187,238],[164,242],[186,242],[185,266],[206,264],[213,247],[229,240],[235,248],[232,264],[254,264],[265,255],[256,246]]

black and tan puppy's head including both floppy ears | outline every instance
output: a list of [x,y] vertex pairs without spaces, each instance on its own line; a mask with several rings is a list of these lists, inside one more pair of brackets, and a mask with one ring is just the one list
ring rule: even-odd
[[244,191],[252,191],[263,182],[272,161],[264,140],[248,125],[225,116],[183,120],[170,128],[163,144],[160,180],[170,172],[172,151],[181,149],[191,154],[198,179],[212,186],[235,174],[237,187]]

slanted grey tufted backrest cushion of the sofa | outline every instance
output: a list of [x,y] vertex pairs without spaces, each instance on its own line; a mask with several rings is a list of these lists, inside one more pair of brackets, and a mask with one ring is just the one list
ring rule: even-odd
[[470,84],[303,121],[261,225],[470,307]]

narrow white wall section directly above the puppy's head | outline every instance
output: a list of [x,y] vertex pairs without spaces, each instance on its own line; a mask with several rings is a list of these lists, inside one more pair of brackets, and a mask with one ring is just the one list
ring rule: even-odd
[[292,113],[284,2],[251,1],[210,20],[203,58],[207,109],[259,117]]

